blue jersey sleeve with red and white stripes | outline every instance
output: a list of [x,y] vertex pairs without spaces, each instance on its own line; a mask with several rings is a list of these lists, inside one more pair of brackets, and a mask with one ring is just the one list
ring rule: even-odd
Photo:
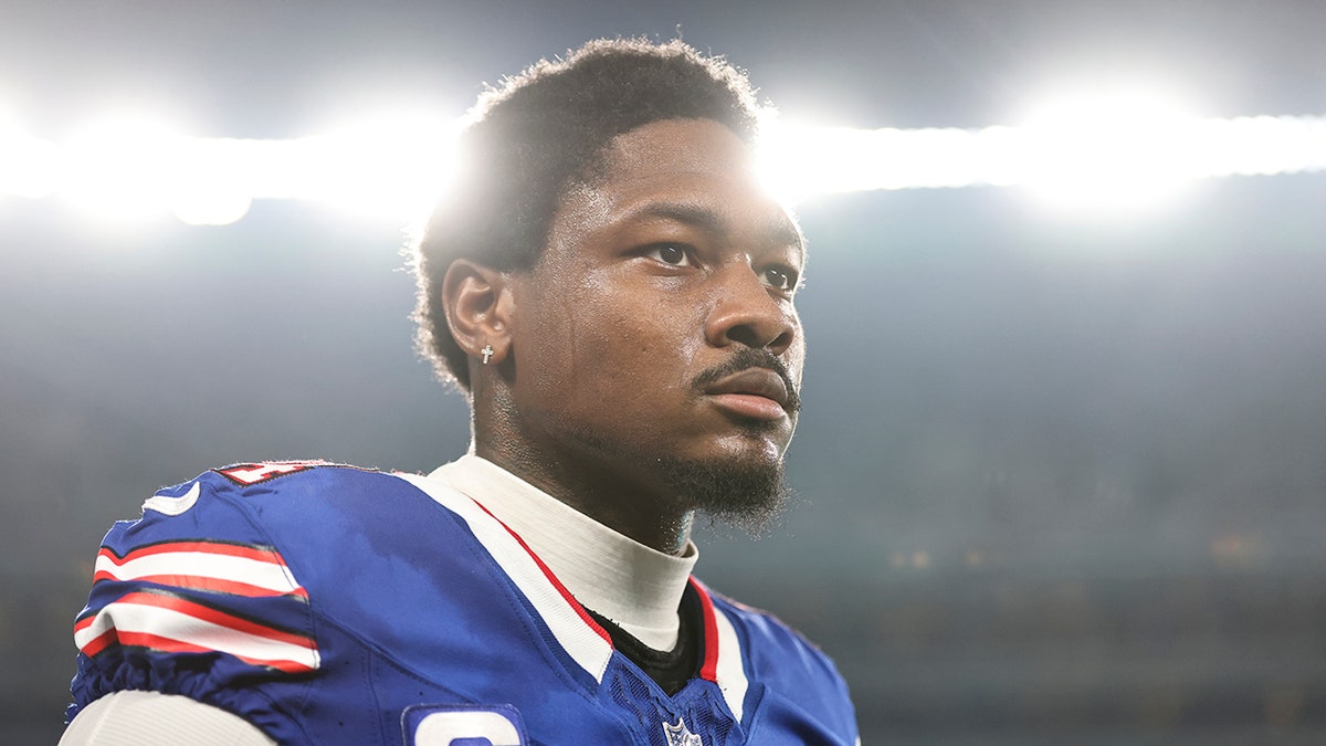
[[110,530],[74,642],[69,719],[111,692],[149,690],[289,733],[286,702],[320,666],[308,591],[219,473],[159,491]]

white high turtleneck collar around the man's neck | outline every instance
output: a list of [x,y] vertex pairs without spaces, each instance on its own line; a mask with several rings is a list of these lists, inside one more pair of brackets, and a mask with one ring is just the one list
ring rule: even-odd
[[582,605],[650,648],[676,645],[678,607],[700,559],[692,542],[680,556],[646,547],[473,454],[438,467],[428,478],[488,508]]

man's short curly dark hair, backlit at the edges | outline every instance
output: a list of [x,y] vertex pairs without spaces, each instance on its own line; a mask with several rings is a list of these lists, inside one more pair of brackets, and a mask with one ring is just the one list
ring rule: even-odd
[[457,259],[509,272],[537,264],[561,198],[594,175],[613,138],[663,119],[712,119],[748,145],[761,118],[745,73],[682,41],[597,40],[487,90],[460,135],[461,163],[412,260],[419,348],[469,390],[442,281]]

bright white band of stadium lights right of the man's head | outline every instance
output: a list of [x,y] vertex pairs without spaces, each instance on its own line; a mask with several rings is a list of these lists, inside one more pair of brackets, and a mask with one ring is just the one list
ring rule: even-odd
[[1197,118],[1159,97],[1066,100],[1022,126],[855,130],[766,123],[780,198],[876,188],[1020,186],[1067,207],[1162,204],[1200,178],[1326,170],[1326,118]]

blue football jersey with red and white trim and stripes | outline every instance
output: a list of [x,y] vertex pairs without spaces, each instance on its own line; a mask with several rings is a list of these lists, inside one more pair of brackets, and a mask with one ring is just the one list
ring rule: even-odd
[[281,743],[857,742],[829,658],[691,583],[701,665],[668,696],[481,495],[346,466],[237,465],[159,491],[107,534],[74,625],[68,714],[142,689]]

